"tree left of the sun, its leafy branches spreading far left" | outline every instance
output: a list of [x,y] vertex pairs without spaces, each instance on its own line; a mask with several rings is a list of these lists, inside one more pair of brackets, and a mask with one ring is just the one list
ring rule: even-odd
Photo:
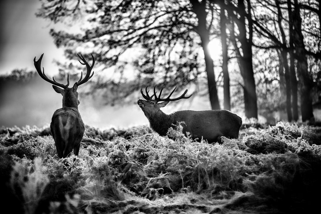
[[[146,51],[146,57],[138,64],[148,67],[142,75],[151,77],[159,69],[157,73],[163,73],[160,79],[166,82],[170,73],[179,76],[183,72],[186,78],[191,75],[197,55],[193,49],[200,46],[204,52],[211,106],[220,109],[208,47],[210,35],[215,31],[213,3],[198,0],[47,0],[37,16],[57,23],[66,18],[78,19],[81,14],[90,24],[82,25],[82,33],[50,31],[56,46],[64,46],[69,59],[74,57],[76,47],[87,46],[91,47],[96,61],[108,68],[120,62],[119,58],[126,50],[140,47]],[[175,61],[171,55],[178,52],[177,55],[185,56],[187,60]],[[149,64],[152,66],[146,66]]]

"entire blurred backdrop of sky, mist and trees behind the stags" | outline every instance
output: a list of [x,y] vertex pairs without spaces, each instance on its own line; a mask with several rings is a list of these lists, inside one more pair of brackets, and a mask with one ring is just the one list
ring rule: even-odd
[[140,89],[177,86],[177,110],[227,109],[243,119],[315,123],[320,114],[318,1],[3,0],[0,3],[0,126],[47,125],[62,96],[36,73],[79,87],[85,124],[148,124]]

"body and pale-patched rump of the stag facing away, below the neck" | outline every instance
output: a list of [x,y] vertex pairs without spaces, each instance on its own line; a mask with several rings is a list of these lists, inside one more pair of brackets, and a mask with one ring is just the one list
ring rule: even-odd
[[85,126],[76,108],[63,107],[55,111],[50,123],[59,158],[66,158],[72,150],[78,156]]

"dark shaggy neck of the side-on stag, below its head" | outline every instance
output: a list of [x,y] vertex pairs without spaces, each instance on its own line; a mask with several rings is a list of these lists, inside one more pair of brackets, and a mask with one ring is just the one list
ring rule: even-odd
[[169,127],[173,123],[172,117],[170,115],[165,114],[161,110],[157,111],[156,114],[147,116],[147,118],[149,120],[151,128],[162,136],[166,135]]

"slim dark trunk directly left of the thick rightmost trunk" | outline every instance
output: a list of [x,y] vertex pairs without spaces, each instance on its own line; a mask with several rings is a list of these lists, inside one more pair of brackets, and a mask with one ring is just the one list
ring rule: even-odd
[[294,65],[294,46],[293,46],[293,23],[292,23],[292,6],[291,0],[288,0],[288,13],[289,13],[289,55],[290,55],[290,79],[291,79],[291,91],[292,91],[292,113],[293,120],[298,121],[298,81],[295,73]]

